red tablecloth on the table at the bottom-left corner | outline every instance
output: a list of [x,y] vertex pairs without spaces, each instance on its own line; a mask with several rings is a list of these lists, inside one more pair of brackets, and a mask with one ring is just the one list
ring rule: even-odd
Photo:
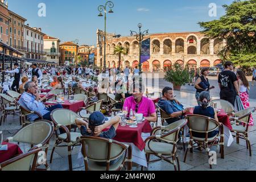
[[0,151],[0,163],[14,158],[16,155],[23,154],[17,144],[3,142],[2,145],[7,144],[7,151]]

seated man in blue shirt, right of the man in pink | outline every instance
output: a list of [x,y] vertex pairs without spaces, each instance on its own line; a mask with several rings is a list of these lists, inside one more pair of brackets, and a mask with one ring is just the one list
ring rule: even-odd
[[177,100],[174,98],[174,91],[170,87],[166,87],[163,89],[163,97],[158,101],[158,106],[163,109],[168,115],[170,115],[170,119],[166,119],[168,125],[183,119],[185,113],[189,112],[191,108],[183,108]]

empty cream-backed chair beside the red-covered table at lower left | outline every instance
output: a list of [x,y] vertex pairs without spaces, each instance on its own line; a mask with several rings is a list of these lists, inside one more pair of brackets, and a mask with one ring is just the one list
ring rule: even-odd
[[[42,148],[44,152],[48,151],[49,140],[54,131],[53,123],[47,120],[40,120],[20,129],[13,137],[7,138],[6,142],[18,142],[31,144],[31,150]],[[35,146],[35,147],[34,147]],[[36,167],[40,166],[36,164]],[[48,164],[44,164],[48,169]]]

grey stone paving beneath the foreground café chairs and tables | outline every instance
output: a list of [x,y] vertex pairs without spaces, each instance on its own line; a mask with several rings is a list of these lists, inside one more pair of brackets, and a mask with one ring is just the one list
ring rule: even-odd
[[[196,101],[193,93],[175,92],[177,100],[181,101],[185,106],[194,106]],[[215,97],[214,97],[215,98]],[[217,98],[217,97],[216,97]],[[256,105],[256,100],[251,100],[252,105]],[[256,121],[256,113],[253,115]],[[160,120],[159,120],[160,122]],[[3,131],[5,138],[11,137],[14,133],[20,129],[19,117],[10,115],[7,117],[6,122],[0,126],[0,130]],[[251,148],[253,150],[253,156],[249,156],[249,150],[246,149],[245,141],[241,141],[240,144],[236,142],[232,143],[232,146],[225,147],[225,159],[221,159],[218,154],[217,165],[213,166],[213,169],[209,168],[208,156],[205,151],[196,151],[191,154],[188,152],[187,162],[183,163],[184,151],[179,150],[178,156],[180,159],[180,165],[182,171],[254,171],[256,170],[256,126],[250,127],[249,138],[251,141]],[[55,144],[55,135],[52,137],[49,151],[47,155],[47,161],[52,152],[52,147]],[[30,145],[20,143],[23,151],[28,150]],[[218,148],[215,148],[217,150]],[[214,150],[214,148],[213,148]],[[79,153],[79,147],[75,147],[72,152],[73,169],[76,171],[84,170],[84,163],[77,160]],[[54,152],[53,162],[50,164],[50,168],[53,171],[67,171],[68,170],[68,152],[67,147],[58,148]],[[152,158],[153,159],[153,158]],[[133,170],[140,170],[141,168],[134,167]],[[173,171],[174,167],[167,162],[160,161],[154,164],[150,164],[149,171]]]

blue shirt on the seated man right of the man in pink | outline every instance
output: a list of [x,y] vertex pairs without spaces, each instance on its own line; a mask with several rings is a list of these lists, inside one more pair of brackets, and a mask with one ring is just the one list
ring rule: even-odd
[[[168,101],[168,100],[163,100],[163,99],[160,99],[158,101],[158,106],[161,109],[163,109],[167,114],[179,112],[179,111],[183,110],[183,108],[184,108],[183,105],[178,105],[176,101]],[[171,123],[179,121],[180,119],[182,119],[182,116],[166,119],[166,122],[170,125]]]

